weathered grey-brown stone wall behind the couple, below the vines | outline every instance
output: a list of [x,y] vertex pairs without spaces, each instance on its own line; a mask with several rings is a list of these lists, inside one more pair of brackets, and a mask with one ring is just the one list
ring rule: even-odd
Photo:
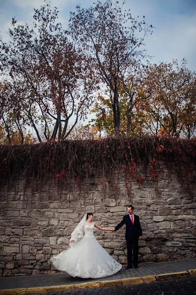
[[[169,175],[169,177],[168,177]],[[158,182],[145,177],[132,181],[128,199],[123,178],[118,193],[110,186],[93,185],[72,195],[55,181],[45,184],[18,178],[0,191],[0,275],[56,272],[51,256],[68,247],[70,234],[84,212],[93,212],[95,222],[113,228],[135,206],[140,216],[141,264],[196,257],[196,185],[190,197],[175,173],[164,170]],[[194,188],[195,185],[195,188]],[[116,233],[95,231],[100,244],[123,266],[126,265],[125,228]]]

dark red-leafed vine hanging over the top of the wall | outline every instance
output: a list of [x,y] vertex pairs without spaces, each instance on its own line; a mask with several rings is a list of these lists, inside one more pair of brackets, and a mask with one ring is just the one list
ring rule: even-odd
[[[129,195],[132,180],[142,185],[148,175],[157,181],[164,171],[163,162],[168,169],[176,167],[182,187],[189,185],[196,171],[196,138],[129,137],[1,145],[0,182],[3,185],[20,175],[40,181],[51,177],[59,185],[83,189],[86,182],[103,184],[105,179],[119,191],[114,179],[120,172]],[[139,166],[145,175],[138,171]]]

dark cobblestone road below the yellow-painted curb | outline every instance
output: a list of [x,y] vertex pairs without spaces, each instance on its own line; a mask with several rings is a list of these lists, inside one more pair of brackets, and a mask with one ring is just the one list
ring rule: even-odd
[[196,295],[196,276],[162,282],[74,289],[37,295]]

